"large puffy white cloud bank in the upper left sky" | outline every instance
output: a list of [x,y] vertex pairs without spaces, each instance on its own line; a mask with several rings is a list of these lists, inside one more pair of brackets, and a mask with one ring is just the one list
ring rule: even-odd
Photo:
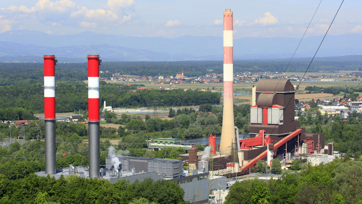
[[[16,20],[17,28],[24,19],[50,26],[114,27],[131,20],[134,0],[108,0],[99,9],[77,5],[75,0],[38,0],[33,6],[10,5],[0,8],[5,19]],[[4,26],[4,25],[3,25]],[[4,27],[1,28],[5,29]],[[8,26],[7,28],[8,29]]]

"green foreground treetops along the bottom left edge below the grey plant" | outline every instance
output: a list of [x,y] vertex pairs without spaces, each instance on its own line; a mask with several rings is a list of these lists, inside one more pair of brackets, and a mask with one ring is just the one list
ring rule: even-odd
[[8,180],[0,175],[0,203],[54,204],[187,204],[176,182],[166,180],[111,184],[77,176],[38,177],[34,174]]

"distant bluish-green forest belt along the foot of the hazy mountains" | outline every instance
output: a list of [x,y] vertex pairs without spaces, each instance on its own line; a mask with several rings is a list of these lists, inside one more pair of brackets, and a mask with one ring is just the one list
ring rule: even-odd
[[[88,78],[87,63],[63,63],[56,66],[57,81],[84,81]],[[135,76],[176,76],[183,70],[184,76],[196,77],[207,73],[223,73],[222,61],[178,61],[178,62],[103,62],[100,76],[112,73]],[[295,59],[287,72],[304,72],[310,59]],[[284,72],[288,60],[234,60],[234,73],[239,72]],[[29,85],[43,82],[42,63],[0,63],[0,86]],[[362,60],[354,57],[320,58],[313,61],[308,72],[359,70]],[[109,71],[109,73],[106,73]],[[58,83],[58,82],[57,82]]]

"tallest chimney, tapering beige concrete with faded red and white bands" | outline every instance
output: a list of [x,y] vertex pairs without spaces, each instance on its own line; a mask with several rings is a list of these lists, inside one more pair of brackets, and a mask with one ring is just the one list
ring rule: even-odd
[[233,155],[238,162],[236,139],[234,131],[233,102],[233,12],[224,12],[224,107],[220,151],[221,154]]

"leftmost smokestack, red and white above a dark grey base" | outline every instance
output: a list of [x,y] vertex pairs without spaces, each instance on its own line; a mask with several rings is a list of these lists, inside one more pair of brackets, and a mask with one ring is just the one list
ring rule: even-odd
[[44,55],[45,173],[55,174],[55,65],[54,55]]

